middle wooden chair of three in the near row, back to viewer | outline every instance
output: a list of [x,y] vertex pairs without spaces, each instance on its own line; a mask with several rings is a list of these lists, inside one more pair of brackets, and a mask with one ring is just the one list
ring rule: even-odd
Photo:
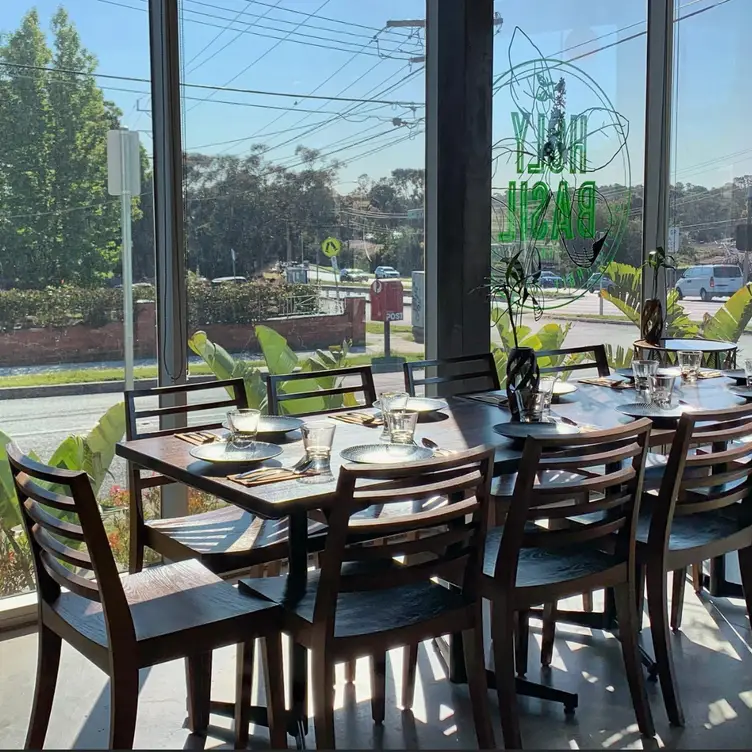
[[[635,531],[650,421],[576,437],[528,439],[503,527],[486,536],[481,594],[491,601],[496,687],[504,746],[519,749],[515,614],[610,587],[637,723],[654,734],[637,646]],[[562,479],[555,477],[561,474]],[[551,476],[554,477],[551,477]],[[541,477],[545,480],[541,481]],[[587,515],[563,529],[557,519]],[[538,524],[546,521],[548,527]]]

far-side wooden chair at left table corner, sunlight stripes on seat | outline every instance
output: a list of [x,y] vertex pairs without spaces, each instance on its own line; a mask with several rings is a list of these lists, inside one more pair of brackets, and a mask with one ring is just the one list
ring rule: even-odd
[[[190,396],[216,389],[225,389],[228,395],[211,402],[186,404]],[[159,398],[161,402],[165,397],[175,397],[183,404],[156,408],[140,406],[141,400],[145,398]],[[125,393],[125,435],[128,441],[133,441],[180,433],[186,429],[154,428],[148,425],[148,421],[151,419],[153,422],[153,419],[163,416],[190,415],[207,410],[231,410],[247,406],[243,379],[131,390]],[[221,421],[214,418],[201,426],[191,426],[191,429],[211,430],[221,426]],[[259,565],[273,563],[279,566],[280,560],[287,558],[287,532],[283,529],[282,523],[262,520],[234,505],[185,517],[146,520],[144,490],[175,481],[164,475],[143,475],[144,472],[146,471],[142,471],[133,463],[128,463],[131,574],[143,569],[146,546],[171,561],[198,559],[212,572],[223,576]]]

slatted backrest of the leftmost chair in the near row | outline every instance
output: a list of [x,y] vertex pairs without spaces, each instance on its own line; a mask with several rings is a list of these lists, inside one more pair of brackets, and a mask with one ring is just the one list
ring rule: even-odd
[[[342,468],[337,503],[319,555],[314,623],[333,633],[339,593],[399,588],[428,583],[433,577],[461,583],[465,603],[474,604],[479,597],[493,458],[493,449],[481,447],[451,459]],[[374,504],[407,501],[419,503],[425,511],[386,512],[376,520],[354,517]],[[358,543],[376,539],[377,545]],[[394,565],[399,556],[408,558]],[[353,562],[354,567],[343,566]],[[387,576],[384,566],[391,567]]]

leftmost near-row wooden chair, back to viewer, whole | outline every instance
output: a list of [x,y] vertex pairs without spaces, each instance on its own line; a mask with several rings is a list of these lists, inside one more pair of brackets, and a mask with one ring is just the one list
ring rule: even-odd
[[[285,577],[241,581],[250,592],[282,603],[284,631],[312,651],[319,749],[334,748],[335,663],[376,656],[371,702],[374,721],[380,723],[386,651],[406,645],[414,654],[423,640],[452,632],[465,632],[478,744],[493,747],[478,593],[492,469],[493,450],[485,448],[420,464],[345,467],[329,515],[321,570],[309,572],[305,591],[285,598]],[[418,514],[355,517],[374,503],[441,497],[453,501]],[[400,537],[390,542],[391,536]],[[374,538],[383,542],[372,545]],[[405,557],[402,564],[395,560],[400,556]],[[438,585],[435,577],[451,579],[461,589]],[[415,664],[406,660],[405,666],[403,704],[410,707]]]

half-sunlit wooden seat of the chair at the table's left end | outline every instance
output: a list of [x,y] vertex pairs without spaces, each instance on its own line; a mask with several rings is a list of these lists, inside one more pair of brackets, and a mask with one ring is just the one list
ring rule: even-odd
[[[219,645],[221,630],[229,629],[228,642],[234,642],[233,635],[238,629],[242,632],[243,621],[251,634],[261,612],[268,623],[270,611],[276,608],[262,597],[241,595],[195,559],[126,574],[121,583],[133,618],[139,667],[182,657],[181,639],[200,640],[201,633],[212,635]],[[45,609],[48,617],[63,620],[101,646],[107,659],[107,628],[100,603],[63,591],[53,603],[45,603]]]

